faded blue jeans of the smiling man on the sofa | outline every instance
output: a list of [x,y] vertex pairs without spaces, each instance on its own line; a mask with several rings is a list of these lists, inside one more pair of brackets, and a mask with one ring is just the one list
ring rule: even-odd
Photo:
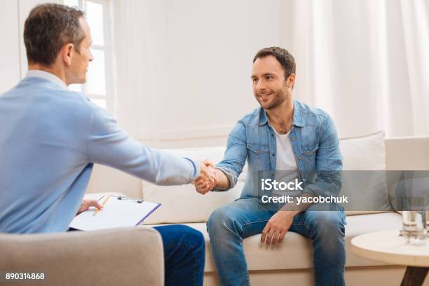
[[[212,212],[207,231],[222,285],[250,284],[243,238],[261,233],[280,206],[240,198]],[[345,285],[345,222],[344,212],[333,204],[312,205],[294,217],[289,231],[313,240],[315,285]]]

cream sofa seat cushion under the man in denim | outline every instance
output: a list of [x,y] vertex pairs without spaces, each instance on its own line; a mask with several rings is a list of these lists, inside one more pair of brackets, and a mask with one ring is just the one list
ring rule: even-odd
[[[205,223],[186,224],[203,233],[205,238],[205,272],[215,271],[210,240]],[[347,217],[346,224],[346,267],[387,265],[357,257],[351,252],[351,239],[363,233],[402,229],[402,217],[396,212],[361,214]],[[280,245],[261,245],[261,235],[243,240],[247,268],[254,270],[298,269],[313,267],[311,239],[289,232]]]

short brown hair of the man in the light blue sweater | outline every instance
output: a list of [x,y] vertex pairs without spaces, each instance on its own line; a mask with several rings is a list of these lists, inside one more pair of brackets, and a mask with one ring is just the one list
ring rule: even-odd
[[28,62],[48,67],[66,43],[72,43],[79,53],[79,45],[85,38],[79,22],[83,15],[76,8],[59,4],[34,7],[24,26]]

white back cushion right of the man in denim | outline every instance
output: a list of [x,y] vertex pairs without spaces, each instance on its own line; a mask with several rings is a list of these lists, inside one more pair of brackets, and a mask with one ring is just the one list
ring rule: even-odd
[[351,210],[346,212],[347,215],[391,210],[384,172],[386,170],[384,132],[344,138],[339,142],[344,170],[340,195],[348,196],[348,206]]

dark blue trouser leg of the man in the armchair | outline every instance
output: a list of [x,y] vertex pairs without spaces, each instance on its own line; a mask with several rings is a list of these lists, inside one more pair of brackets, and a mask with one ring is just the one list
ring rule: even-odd
[[179,224],[156,226],[164,245],[165,285],[203,285],[203,234]]

